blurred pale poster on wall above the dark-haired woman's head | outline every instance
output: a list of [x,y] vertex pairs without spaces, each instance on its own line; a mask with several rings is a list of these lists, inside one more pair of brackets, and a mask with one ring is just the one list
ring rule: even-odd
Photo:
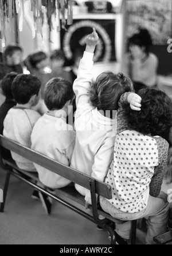
[[171,13],[171,0],[128,0],[127,36],[132,36],[139,27],[147,28],[155,45],[166,45],[172,36]]

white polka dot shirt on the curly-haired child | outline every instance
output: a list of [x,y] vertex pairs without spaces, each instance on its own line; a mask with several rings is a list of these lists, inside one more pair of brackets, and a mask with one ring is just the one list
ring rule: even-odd
[[158,156],[155,137],[132,130],[116,135],[114,162],[105,179],[112,186],[115,208],[127,213],[146,209]]

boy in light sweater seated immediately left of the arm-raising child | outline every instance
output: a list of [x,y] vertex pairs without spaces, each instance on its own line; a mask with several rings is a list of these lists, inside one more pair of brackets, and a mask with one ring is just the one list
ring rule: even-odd
[[[50,159],[69,166],[75,146],[75,131],[67,125],[68,107],[74,97],[67,80],[53,78],[45,89],[45,104],[49,112],[42,116],[32,132],[32,149]],[[50,189],[68,186],[71,181],[34,164],[41,182]]]

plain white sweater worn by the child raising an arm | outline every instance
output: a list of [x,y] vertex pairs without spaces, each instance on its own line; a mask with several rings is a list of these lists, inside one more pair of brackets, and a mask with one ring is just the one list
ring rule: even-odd
[[[105,118],[89,100],[93,78],[93,54],[84,52],[73,90],[76,94],[76,146],[71,167],[104,181],[113,160],[116,120]],[[90,191],[76,185],[80,194],[91,204]]]

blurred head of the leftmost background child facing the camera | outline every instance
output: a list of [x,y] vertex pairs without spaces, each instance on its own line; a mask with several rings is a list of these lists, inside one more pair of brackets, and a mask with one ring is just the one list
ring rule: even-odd
[[23,57],[23,49],[18,44],[10,44],[6,47],[4,52],[5,66],[7,73],[16,72],[18,74],[23,73],[21,66]]

